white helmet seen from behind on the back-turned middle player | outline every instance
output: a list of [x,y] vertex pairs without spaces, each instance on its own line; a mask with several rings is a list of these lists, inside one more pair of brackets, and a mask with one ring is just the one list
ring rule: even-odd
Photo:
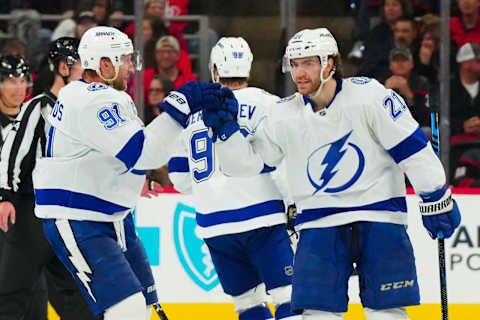
[[215,68],[220,78],[248,78],[252,67],[253,54],[245,39],[238,37],[223,37],[210,52],[210,73],[213,82]]

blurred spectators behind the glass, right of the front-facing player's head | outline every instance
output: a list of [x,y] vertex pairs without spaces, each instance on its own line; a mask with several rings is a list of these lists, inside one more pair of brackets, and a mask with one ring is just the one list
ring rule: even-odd
[[[450,114],[451,183],[480,186],[480,1],[451,1]],[[439,105],[439,1],[357,0],[348,59],[357,75],[372,77],[407,102],[429,135],[430,107]],[[378,11],[379,22],[370,28]]]

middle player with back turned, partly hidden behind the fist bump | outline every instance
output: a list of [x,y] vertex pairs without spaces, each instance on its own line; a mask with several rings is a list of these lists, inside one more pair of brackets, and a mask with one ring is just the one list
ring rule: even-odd
[[[248,43],[230,37],[212,48],[209,64],[212,81],[223,90],[232,89],[238,99],[238,123],[247,139],[268,113],[266,106],[278,100],[248,87],[252,60]],[[209,248],[222,288],[232,296],[240,320],[273,318],[265,289],[275,305],[275,319],[301,319],[290,310],[293,251],[283,197],[270,175],[275,168],[265,166],[261,174],[249,178],[226,177],[213,141],[202,113],[192,114],[169,161],[169,172],[175,188],[194,196],[197,233]]]

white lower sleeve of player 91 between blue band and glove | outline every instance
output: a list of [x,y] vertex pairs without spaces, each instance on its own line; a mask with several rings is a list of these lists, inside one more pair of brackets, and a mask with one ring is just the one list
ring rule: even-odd
[[155,118],[145,129],[142,155],[135,169],[156,169],[168,162],[182,127],[166,113]]

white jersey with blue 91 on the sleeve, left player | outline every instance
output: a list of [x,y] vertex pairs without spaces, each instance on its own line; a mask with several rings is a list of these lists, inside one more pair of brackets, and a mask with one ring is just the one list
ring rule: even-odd
[[74,81],[48,116],[46,157],[33,173],[40,218],[116,221],[140,197],[145,170],[169,158],[181,127],[168,115],[146,128],[125,92]]

